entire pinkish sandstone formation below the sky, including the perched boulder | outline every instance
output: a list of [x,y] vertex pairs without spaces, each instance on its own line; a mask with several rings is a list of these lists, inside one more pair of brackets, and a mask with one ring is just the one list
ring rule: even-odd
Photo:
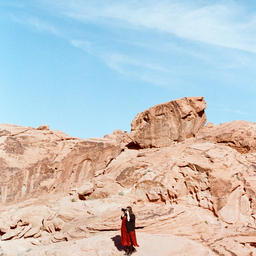
[[203,127],[205,108],[178,99],[138,114],[130,134],[87,140],[0,125],[3,252],[122,255],[132,206],[138,255],[256,255],[256,124]]

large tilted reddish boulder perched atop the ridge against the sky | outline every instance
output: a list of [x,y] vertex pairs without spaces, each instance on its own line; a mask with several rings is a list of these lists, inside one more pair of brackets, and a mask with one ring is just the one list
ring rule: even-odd
[[186,97],[137,114],[130,138],[141,148],[165,147],[195,137],[207,121],[203,97]]

